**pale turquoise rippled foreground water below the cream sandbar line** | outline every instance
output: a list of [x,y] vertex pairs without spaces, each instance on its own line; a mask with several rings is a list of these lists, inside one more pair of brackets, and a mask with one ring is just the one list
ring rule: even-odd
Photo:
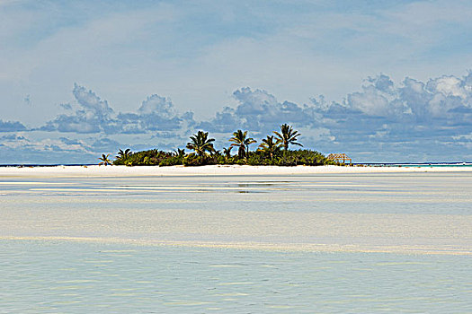
[[466,313],[470,258],[0,241],[2,313]]

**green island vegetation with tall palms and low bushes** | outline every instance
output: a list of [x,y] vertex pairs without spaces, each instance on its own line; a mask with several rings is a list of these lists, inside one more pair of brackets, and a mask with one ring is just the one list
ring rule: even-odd
[[[293,130],[292,126],[281,125],[281,132],[273,132],[274,135],[267,135],[262,140],[259,148],[252,152],[249,145],[256,143],[254,138],[248,137],[247,131],[237,130],[233,137],[229,139],[230,146],[223,148],[222,151],[215,150],[213,146],[214,138],[209,138],[208,132],[198,131],[191,135],[191,141],[187,143],[186,148],[190,153],[178,148],[174,152],[164,152],[156,149],[142,151],[137,153],[120,150],[115,165],[141,166],[141,165],[159,165],[159,166],[200,166],[211,164],[239,164],[239,165],[274,165],[274,166],[318,166],[325,164],[336,164],[328,160],[322,153],[311,150],[290,151],[289,145],[299,145],[298,131]],[[233,147],[237,147],[236,155],[231,154]],[[103,161],[103,159],[107,161]],[[108,155],[102,156],[103,162],[108,161]],[[107,164],[107,163],[103,163]]]

